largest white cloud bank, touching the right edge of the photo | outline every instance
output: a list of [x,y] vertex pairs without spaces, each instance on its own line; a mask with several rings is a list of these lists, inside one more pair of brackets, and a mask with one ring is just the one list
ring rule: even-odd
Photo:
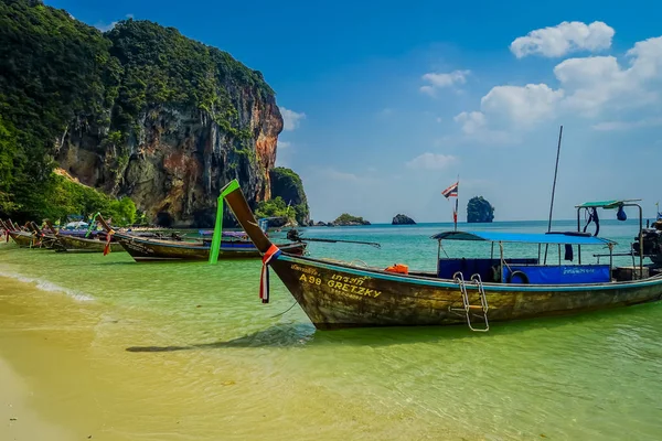
[[[496,86],[481,99],[484,119],[470,119],[474,112],[462,112],[456,122],[465,133],[471,133],[478,126],[526,128],[558,115],[596,118],[606,110],[613,115],[660,103],[662,36],[636,43],[627,52],[624,63],[613,56],[565,60],[554,67],[558,88],[546,84]],[[621,127],[620,122],[608,121],[594,125],[596,130]]]

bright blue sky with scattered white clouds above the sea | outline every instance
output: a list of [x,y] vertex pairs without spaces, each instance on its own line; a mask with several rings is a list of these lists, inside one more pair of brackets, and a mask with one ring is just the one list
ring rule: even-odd
[[[263,72],[285,120],[277,164],[311,217],[404,213],[546,219],[585,201],[662,200],[662,3],[656,1],[46,0],[102,30],[174,26]],[[630,214],[634,216],[636,213]]]

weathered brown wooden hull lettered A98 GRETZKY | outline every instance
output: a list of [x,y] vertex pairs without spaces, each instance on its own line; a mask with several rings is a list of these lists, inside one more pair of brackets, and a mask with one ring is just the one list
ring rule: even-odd
[[[273,269],[316,327],[466,324],[457,283],[281,255]],[[476,286],[469,302],[480,305]],[[660,300],[662,279],[586,286],[484,284],[492,321],[564,315]]]

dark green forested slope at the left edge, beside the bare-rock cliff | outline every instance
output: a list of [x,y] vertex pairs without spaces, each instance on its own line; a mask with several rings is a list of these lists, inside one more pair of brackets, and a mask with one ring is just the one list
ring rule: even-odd
[[36,193],[55,191],[52,153],[68,122],[100,110],[109,46],[65,11],[0,2],[0,214],[55,208]]

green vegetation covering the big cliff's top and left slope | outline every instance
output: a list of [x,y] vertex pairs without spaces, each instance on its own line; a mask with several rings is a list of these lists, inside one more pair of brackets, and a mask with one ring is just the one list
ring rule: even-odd
[[53,158],[74,131],[120,179],[137,121],[160,106],[194,106],[243,151],[252,132],[228,90],[274,95],[259,72],[175,29],[126,20],[103,34],[38,0],[0,1],[0,216],[17,219],[61,208],[47,196],[63,191]]

